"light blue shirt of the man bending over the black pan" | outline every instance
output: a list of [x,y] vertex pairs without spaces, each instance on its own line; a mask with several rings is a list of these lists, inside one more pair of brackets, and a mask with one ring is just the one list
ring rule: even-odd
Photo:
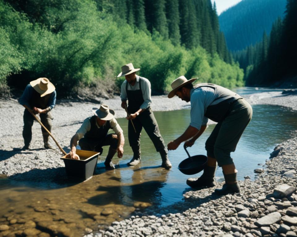
[[208,118],[204,116],[207,107],[218,97],[215,90],[210,87],[193,88],[190,91],[191,123],[192,127],[200,130],[206,125]]

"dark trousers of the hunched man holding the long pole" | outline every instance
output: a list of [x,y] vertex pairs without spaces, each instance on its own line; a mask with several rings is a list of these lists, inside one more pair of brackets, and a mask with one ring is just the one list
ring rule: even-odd
[[[40,115],[41,123],[43,123],[43,125],[49,131],[51,131],[52,115],[50,114],[50,112],[46,114],[39,114],[39,115]],[[25,146],[29,146],[32,139],[32,126],[34,122],[34,117],[32,116],[32,114],[30,114],[30,112],[27,109],[25,109],[23,118],[24,118],[23,138],[24,138]],[[41,131],[42,131],[44,142],[48,142],[48,139],[49,139],[48,132],[45,131],[43,127],[41,127]]]

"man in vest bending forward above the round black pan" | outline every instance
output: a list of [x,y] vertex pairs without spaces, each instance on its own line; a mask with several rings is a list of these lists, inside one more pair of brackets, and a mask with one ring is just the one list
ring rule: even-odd
[[171,83],[172,90],[168,98],[177,95],[191,102],[191,123],[179,138],[168,143],[168,149],[175,150],[183,141],[186,141],[186,147],[191,147],[205,130],[208,118],[217,122],[205,143],[208,160],[204,172],[197,179],[187,179],[187,185],[193,188],[215,186],[214,175],[218,164],[222,166],[226,182],[215,193],[239,193],[237,170],[230,152],[235,151],[244,129],[252,119],[252,107],[238,94],[219,85],[203,83],[194,89],[192,82],[196,79],[187,80],[181,76]]

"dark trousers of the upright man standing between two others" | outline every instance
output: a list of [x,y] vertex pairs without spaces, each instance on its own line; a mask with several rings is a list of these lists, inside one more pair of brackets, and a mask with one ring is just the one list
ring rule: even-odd
[[151,108],[145,110],[144,112],[139,114],[135,119],[133,119],[133,124],[135,126],[136,132],[134,131],[131,120],[129,120],[128,139],[132,149],[136,147],[140,148],[140,136],[142,127],[149,135],[149,138],[152,140],[157,152],[160,152],[161,150],[165,149],[164,140],[160,134],[157,120]]

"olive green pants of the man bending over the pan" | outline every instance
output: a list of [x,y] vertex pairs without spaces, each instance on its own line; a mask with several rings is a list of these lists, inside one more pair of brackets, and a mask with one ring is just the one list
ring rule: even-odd
[[205,149],[207,156],[215,158],[219,166],[233,164],[230,152],[235,151],[252,114],[252,106],[245,99],[239,99],[232,103],[228,116],[213,129],[205,143]]

